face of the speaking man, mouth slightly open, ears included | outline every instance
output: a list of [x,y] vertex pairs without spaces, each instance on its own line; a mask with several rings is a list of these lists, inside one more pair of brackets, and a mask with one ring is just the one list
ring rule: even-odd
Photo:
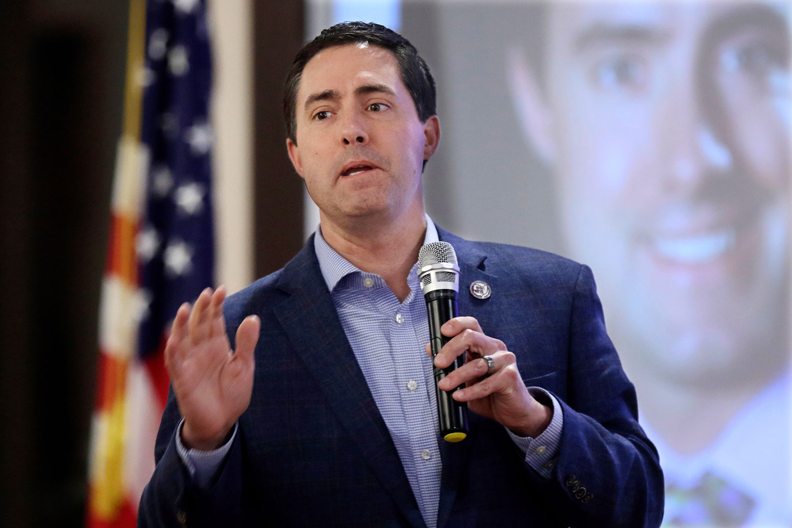
[[394,55],[350,44],[320,51],[297,92],[295,169],[325,222],[399,218],[423,207],[421,169],[440,136],[421,123]]

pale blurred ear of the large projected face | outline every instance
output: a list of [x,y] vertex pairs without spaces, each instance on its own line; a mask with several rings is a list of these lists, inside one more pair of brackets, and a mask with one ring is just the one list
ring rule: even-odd
[[520,48],[508,49],[506,63],[508,87],[525,139],[539,158],[552,165],[556,161],[553,115],[539,89],[539,82]]

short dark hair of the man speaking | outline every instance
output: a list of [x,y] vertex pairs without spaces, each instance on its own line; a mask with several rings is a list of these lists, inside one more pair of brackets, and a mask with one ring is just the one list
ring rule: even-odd
[[425,123],[437,113],[435,80],[429,72],[429,66],[418,55],[418,51],[409,40],[386,28],[384,25],[366,22],[341,22],[322,31],[319,36],[303,46],[291,63],[291,70],[284,83],[284,119],[286,120],[286,136],[297,143],[296,105],[297,89],[303,77],[305,65],[319,51],[327,47],[345,44],[367,43],[383,47],[396,57],[402,82],[413,98],[418,119]]

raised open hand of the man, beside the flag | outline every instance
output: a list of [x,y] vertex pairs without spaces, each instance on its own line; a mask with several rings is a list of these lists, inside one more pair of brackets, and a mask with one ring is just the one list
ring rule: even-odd
[[202,291],[195,306],[181,305],[165,348],[165,366],[185,419],[181,440],[188,448],[223,445],[253,393],[253,350],[261,321],[249,315],[237,329],[232,351],[223,318],[224,287]]

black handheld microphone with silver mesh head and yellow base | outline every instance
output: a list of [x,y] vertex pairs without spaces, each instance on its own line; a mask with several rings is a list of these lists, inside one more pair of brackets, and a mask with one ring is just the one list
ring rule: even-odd
[[[440,327],[456,317],[456,292],[459,291],[459,263],[454,247],[448,242],[429,242],[418,252],[418,280],[424,292],[426,312],[429,316],[429,336],[432,358],[450,338],[440,332]],[[461,387],[444,391],[437,382],[462,367],[464,358],[458,357],[451,366],[440,369],[432,365],[437,393],[437,414],[440,417],[440,435],[447,442],[460,442],[467,436],[467,405],[455,401],[451,395]]]

